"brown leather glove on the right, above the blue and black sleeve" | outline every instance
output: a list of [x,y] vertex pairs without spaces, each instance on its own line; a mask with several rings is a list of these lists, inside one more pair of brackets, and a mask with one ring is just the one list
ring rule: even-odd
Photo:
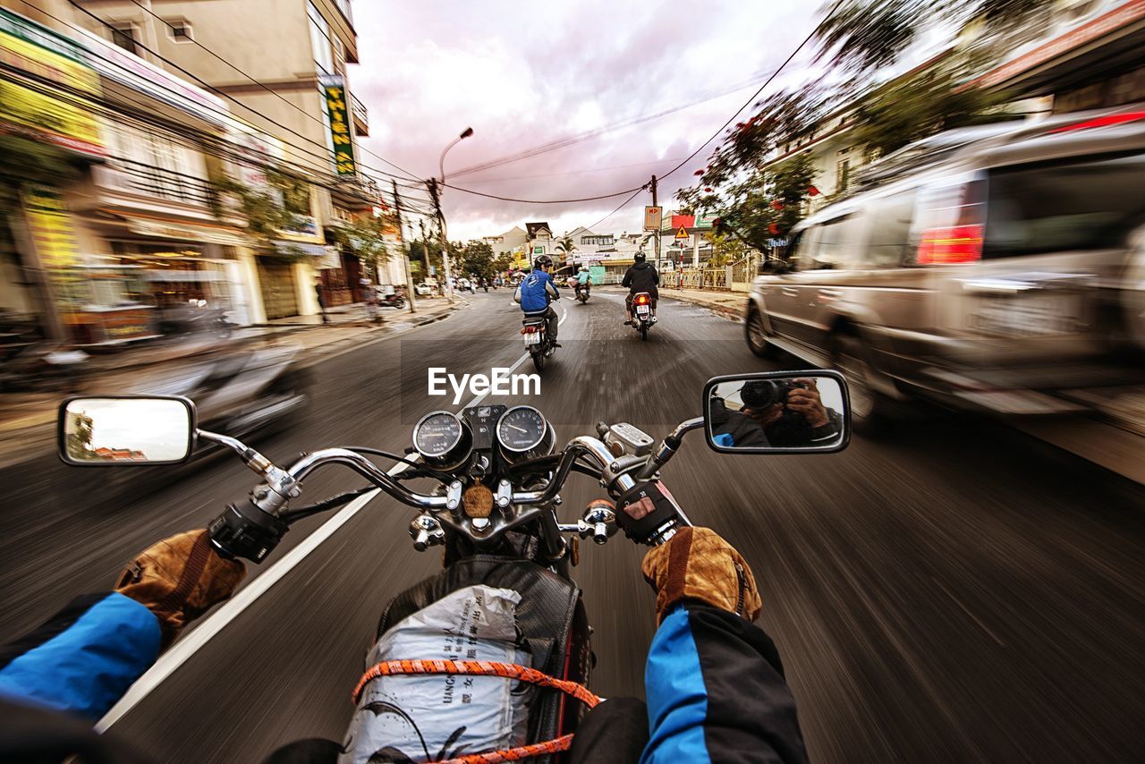
[[763,607],[751,568],[711,528],[680,528],[670,542],[649,550],[640,567],[656,590],[657,623],[684,599],[700,600],[748,621],[755,621]]

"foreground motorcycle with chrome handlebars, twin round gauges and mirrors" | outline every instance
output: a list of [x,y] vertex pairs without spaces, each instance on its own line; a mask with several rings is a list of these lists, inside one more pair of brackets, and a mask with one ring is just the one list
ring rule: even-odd
[[[745,385],[787,388],[791,385],[785,383],[796,379],[804,386],[813,383],[820,391],[823,405],[838,422],[834,438],[785,448],[737,448],[729,442],[729,435],[721,431],[728,428],[732,412],[742,408],[739,397]],[[203,443],[232,450],[261,482],[247,497],[227,506],[211,522],[208,531],[220,553],[253,562],[264,561],[292,523],[352,501],[364,499],[358,502],[360,506],[378,504],[374,499],[384,493],[413,507],[417,514],[409,526],[413,548],[418,551],[443,548],[444,569],[400,593],[382,614],[379,641],[371,651],[371,661],[379,662],[366,672],[355,693],[360,699],[358,712],[347,739],[348,747],[371,743],[371,748],[361,756],[358,750],[355,761],[365,761],[369,751],[376,750],[377,726],[371,739],[371,725],[381,725],[386,718],[397,716],[402,724],[386,727],[385,734],[400,735],[403,730],[408,733],[412,730],[416,737],[386,740],[387,761],[418,759],[421,750],[442,750],[439,758],[451,758],[449,751],[456,754],[451,746],[463,747],[463,743],[468,747],[466,754],[488,750],[490,743],[483,743],[481,735],[489,733],[480,725],[466,732],[459,722],[466,708],[461,703],[442,706],[440,692],[432,698],[426,717],[416,719],[408,708],[395,710],[390,701],[380,702],[377,696],[370,701],[368,693],[363,696],[364,688],[373,680],[371,676],[378,678],[386,671],[444,674],[450,698],[453,692],[450,677],[460,692],[461,682],[456,675],[473,674],[475,669],[452,659],[416,661],[405,654],[401,657],[406,660],[393,660],[393,654],[386,652],[392,640],[386,639],[398,632],[401,624],[408,628],[411,616],[427,613],[435,602],[463,588],[481,585],[492,588],[482,591],[500,594],[510,590],[516,597],[508,625],[512,647],[519,649],[514,653],[518,662],[508,668],[520,669],[528,663],[526,670],[539,671],[545,675],[543,679],[550,680],[529,688],[519,685],[513,691],[513,702],[521,708],[513,708],[512,742],[544,745],[544,751],[553,754],[570,745],[564,735],[575,732],[585,700],[583,694],[572,692],[582,701],[574,703],[561,694],[570,692],[568,685],[552,688],[551,679],[576,683],[584,690],[593,663],[592,628],[582,591],[571,577],[571,568],[579,559],[579,542],[592,538],[605,544],[623,527],[629,538],[658,545],[690,525],[663,489],[660,474],[679,451],[684,436],[694,430],[703,428],[709,446],[721,452],[834,452],[847,443],[846,386],[834,371],[717,377],[708,383],[701,401],[703,416],[681,422],[658,444],[631,424],[599,423],[595,434],[576,436],[556,450],[554,430],[539,410],[529,405],[476,405],[459,413],[433,411],[424,416],[413,427],[412,449],[405,455],[363,447],[326,448],[278,466],[232,435],[199,428],[196,408],[187,399],[78,397],[61,405],[58,452],[73,465],[125,466],[179,464],[191,458]],[[394,465],[382,470],[374,460],[379,457]],[[329,465],[349,467],[369,485],[292,507],[309,475]],[[611,502],[594,501],[576,520],[562,521],[558,515],[560,491],[574,472],[601,486]],[[643,498],[650,498],[654,506],[647,515],[633,520],[623,512],[625,506]],[[426,649],[457,637],[458,653],[464,653],[464,648],[476,653],[480,640],[471,638],[476,631],[475,625],[457,633],[448,629],[431,631],[425,635]],[[453,649],[447,647],[449,652]],[[418,668],[412,668],[414,663]],[[403,682],[408,684],[402,685],[401,692],[408,696],[417,693],[417,683],[425,678],[405,677]],[[402,703],[404,707],[405,701]],[[451,715],[458,720],[450,722]],[[433,758],[433,754],[426,757]],[[552,757],[539,761],[551,762]]]

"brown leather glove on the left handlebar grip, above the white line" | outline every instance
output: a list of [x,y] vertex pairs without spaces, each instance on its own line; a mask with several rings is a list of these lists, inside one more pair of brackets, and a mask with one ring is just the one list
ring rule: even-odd
[[155,613],[167,647],[188,621],[229,598],[245,575],[245,565],[219,557],[205,529],[188,530],[140,554],[116,591]]

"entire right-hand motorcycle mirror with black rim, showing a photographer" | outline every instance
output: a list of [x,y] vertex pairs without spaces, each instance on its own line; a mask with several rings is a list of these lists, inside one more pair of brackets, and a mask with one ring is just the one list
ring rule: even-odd
[[708,446],[724,454],[834,454],[851,440],[847,383],[828,369],[713,377],[703,411]]

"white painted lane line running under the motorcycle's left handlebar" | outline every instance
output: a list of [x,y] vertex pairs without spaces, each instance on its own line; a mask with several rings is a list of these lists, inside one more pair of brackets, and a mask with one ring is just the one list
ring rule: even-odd
[[[568,312],[566,312],[564,308],[561,308],[561,314],[560,320],[556,322],[558,326],[563,324],[564,320],[568,318]],[[526,353],[518,359],[516,363],[513,364],[513,370],[516,370],[516,368],[520,367],[528,357],[529,354]],[[484,397],[485,395],[479,395],[469,401],[464,408],[476,405],[480,401],[484,400]],[[404,462],[398,462],[389,468],[387,474],[396,475],[408,470],[409,466],[410,465]],[[109,710],[103,718],[95,724],[95,731],[105,732],[112,724],[121,719],[124,715],[135,708],[141,700],[150,695],[156,687],[163,684],[183,663],[190,660],[195,653],[204,647],[231,621],[237,619],[243,611],[253,605],[259,597],[262,597],[270,590],[271,586],[282,581],[283,576],[290,573],[294,566],[305,560],[310,552],[316,550],[323,542],[333,536],[339,528],[349,522],[363,506],[369,504],[370,501],[377,497],[380,493],[381,489],[377,488],[347,504],[341,511],[338,512],[338,514],[318,526],[314,533],[302,539],[298,546],[289,551],[282,559],[267,568],[267,570],[252,581],[248,586],[242,589],[237,594],[235,594],[235,597],[227,600],[218,611],[199,623],[198,628],[187,635],[187,637],[176,641],[174,647],[160,655],[159,660],[157,660],[151,668],[143,674],[143,676],[135,680],[135,684],[127,690],[124,696],[119,699],[119,702],[112,706],[111,710]]]

